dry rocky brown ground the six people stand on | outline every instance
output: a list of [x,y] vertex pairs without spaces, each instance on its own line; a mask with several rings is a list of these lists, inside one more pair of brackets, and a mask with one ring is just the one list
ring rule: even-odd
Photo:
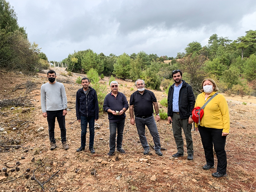
[[[75,95],[81,85],[76,84],[75,80],[83,75],[72,73],[73,76],[67,76],[62,68],[54,70],[57,71],[57,81],[65,86],[70,109],[66,116],[68,150],[62,149],[58,123],[55,130],[58,147],[50,150],[47,120],[43,118],[40,106],[40,87],[47,82],[45,72],[35,76],[0,72],[0,103],[7,102],[4,99],[10,102],[8,107],[0,106],[0,126],[4,129],[0,132],[1,192],[42,191],[38,182],[43,185],[53,175],[43,185],[44,191],[256,191],[255,97],[241,99],[225,95],[231,118],[230,135],[226,143],[228,177],[214,178],[211,173],[216,172],[216,169],[202,169],[205,158],[198,132],[192,131],[194,160],[187,160],[186,151],[184,157],[170,158],[176,153],[172,125],[167,120],[160,120],[157,127],[161,146],[167,150],[162,151],[161,157],[152,149],[149,155],[144,156],[136,127],[130,124],[129,111],[126,112],[123,136],[126,154],[115,152],[113,157],[106,155],[109,150],[106,113],[101,114],[97,122],[100,129],[95,130],[96,153],[91,154],[89,150],[76,152],[80,147],[80,125],[76,121]],[[136,90],[134,83],[116,80],[119,82],[119,91],[129,101],[134,92],[131,88]],[[108,85],[108,81],[109,77],[105,77],[100,82]],[[167,112],[167,108],[159,103],[167,95],[158,91],[154,93],[159,107]],[[246,102],[246,105],[242,102]],[[24,106],[16,107],[17,103]],[[15,109],[11,110],[11,107]],[[37,132],[41,127],[44,130]],[[148,130],[146,136],[153,145]],[[18,145],[21,147],[15,147]],[[2,168],[7,168],[6,172]],[[38,182],[31,180],[33,174]]]

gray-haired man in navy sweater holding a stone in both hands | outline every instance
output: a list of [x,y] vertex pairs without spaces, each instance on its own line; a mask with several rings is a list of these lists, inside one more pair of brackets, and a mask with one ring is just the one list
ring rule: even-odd
[[107,94],[104,99],[103,109],[108,113],[109,120],[109,152],[108,156],[112,156],[115,152],[115,136],[117,130],[116,138],[116,150],[125,154],[122,149],[123,141],[123,131],[125,123],[125,111],[129,108],[128,101],[125,95],[118,92],[118,83],[116,81],[111,81],[110,83],[111,92]]

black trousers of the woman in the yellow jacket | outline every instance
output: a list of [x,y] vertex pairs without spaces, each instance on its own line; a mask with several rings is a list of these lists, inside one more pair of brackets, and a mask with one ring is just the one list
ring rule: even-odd
[[226,136],[222,136],[223,129],[214,129],[198,125],[201,135],[206,164],[214,165],[213,145],[218,159],[217,172],[226,173],[227,155],[225,151]]

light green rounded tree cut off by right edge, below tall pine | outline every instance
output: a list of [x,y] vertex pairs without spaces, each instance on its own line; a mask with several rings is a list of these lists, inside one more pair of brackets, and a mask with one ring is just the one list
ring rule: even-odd
[[244,77],[248,81],[253,81],[256,79],[256,56],[252,54],[248,59],[246,59],[243,67]]

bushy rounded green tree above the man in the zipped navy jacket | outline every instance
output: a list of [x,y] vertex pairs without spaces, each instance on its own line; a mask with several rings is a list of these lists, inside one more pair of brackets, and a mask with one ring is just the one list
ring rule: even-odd
[[94,68],[98,73],[102,73],[104,69],[102,60],[100,60],[98,54],[94,53],[92,50],[88,50],[87,53],[83,54],[81,65],[85,72],[89,71],[91,68]]

